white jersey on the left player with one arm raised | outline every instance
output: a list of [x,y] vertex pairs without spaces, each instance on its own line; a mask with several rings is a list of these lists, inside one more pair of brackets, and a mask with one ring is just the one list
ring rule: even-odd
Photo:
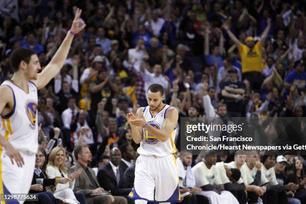
[[18,150],[36,153],[38,148],[37,87],[27,83],[27,93],[13,82],[6,80],[1,86],[13,92],[14,106],[8,115],[1,115],[0,133]]

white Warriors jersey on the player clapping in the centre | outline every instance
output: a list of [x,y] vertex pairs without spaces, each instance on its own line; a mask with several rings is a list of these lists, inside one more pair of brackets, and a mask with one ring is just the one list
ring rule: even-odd
[[[150,110],[149,106],[146,106],[143,108],[143,115],[145,118],[145,121],[157,129],[162,129],[163,121],[165,120],[165,115],[167,109],[170,107],[170,105],[164,104],[163,107],[159,112],[157,112],[155,115]],[[176,126],[173,128],[173,131],[171,132],[171,135],[169,138],[162,142],[159,141],[155,136],[151,135],[148,131],[146,131],[144,128],[142,129],[142,141],[140,142],[140,147],[137,149],[137,152],[140,155],[156,155],[156,156],[167,156],[169,154],[172,154],[176,151],[176,147],[174,145],[174,139],[175,139],[175,131]]]

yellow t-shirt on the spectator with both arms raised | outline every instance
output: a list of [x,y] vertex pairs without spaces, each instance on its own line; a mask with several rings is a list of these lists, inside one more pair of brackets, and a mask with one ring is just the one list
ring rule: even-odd
[[239,52],[241,56],[242,73],[248,71],[261,72],[262,70],[262,45],[257,41],[252,49],[240,43]]

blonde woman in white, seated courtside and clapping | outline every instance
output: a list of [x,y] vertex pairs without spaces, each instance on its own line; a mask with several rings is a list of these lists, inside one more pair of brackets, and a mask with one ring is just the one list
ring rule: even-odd
[[70,198],[78,200],[80,203],[86,203],[83,193],[77,193],[72,191],[75,178],[81,173],[78,169],[69,175],[67,169],[64,167],[65,151],[61,147],[55,147],[51,150],[49,155],[49,161],[46,167],[46,173],[49,178],[65,178],[65,180],[72,180],[71,182],[58,183],[55,187],[48,189],[53,192],[54,197]]

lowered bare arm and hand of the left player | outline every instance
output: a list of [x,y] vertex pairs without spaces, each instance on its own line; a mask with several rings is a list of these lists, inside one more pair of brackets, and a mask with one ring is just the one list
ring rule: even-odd
[[[0,87],[0,113],[1,115],[6,114],[3,113],[4,107],[6,105],[10,106],[13,104],[9,104],[10,101],[13,101],[13,93],[11,89],[8,86],[2,86]],[[19,151],[16,150],[9,141],[4,138],[3,135],[0,134],[0,146],[5,149],[6,155],[10,158],[11,163],[13,164],[16,162],[16,164],[21,167],[24,164],[23,158],[20,155]]]

